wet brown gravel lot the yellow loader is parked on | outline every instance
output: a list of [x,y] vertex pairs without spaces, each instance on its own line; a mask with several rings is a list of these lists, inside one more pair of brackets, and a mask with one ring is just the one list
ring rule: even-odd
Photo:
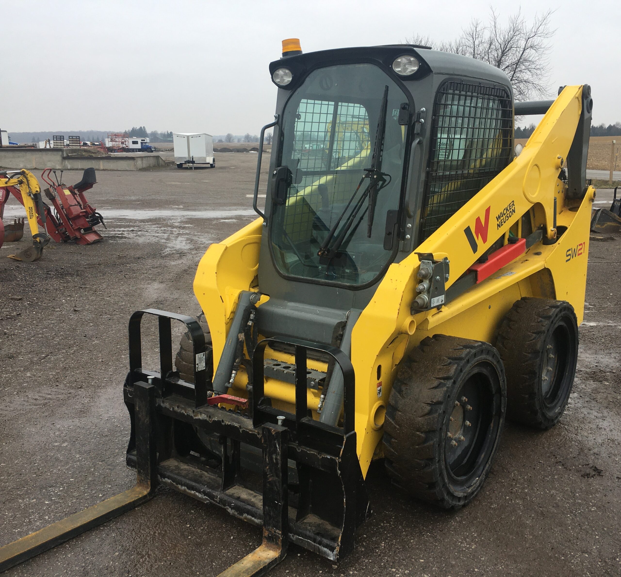
[[[139,308],[197,312],[197,262],[253,219],[255,164],[230,153],[215,169],[99,172],[87,196],[106,218],[102,243],[52,242],[32,264],[6,258],[15,244],[0,249],[0,544],[132,486],[127,321]],[[598,191],[598,205],[611,197]],[[9,202],[5,221],[23,210]],[[558,426],[507,424],[483,490],[452,514],[410,501],[376,463],[355,552],[337,565],[292,546],[270,575],[620,575],[620,244],[591,243],[578,375]],[[259,543],[260,530],[160,488],[6,575],[212,576]]]

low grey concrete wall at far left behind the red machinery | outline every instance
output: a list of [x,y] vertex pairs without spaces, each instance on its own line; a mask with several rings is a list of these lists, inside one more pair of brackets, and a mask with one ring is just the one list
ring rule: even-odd
[[161,166],[166,166],[166,161],[156,153],[81,156],[71,154],[67,149],[58,148],[0,148],[0,168],[143,170]]

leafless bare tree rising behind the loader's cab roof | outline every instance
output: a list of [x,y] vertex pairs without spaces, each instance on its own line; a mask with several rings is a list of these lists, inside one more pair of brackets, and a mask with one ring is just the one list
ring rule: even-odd
[[415,34],[406,38],[409,44],[419,44],[483,60],[500,68],[513,86],[515,100],[524,101],[549,94],[550,43],[556,30],[551,28],[554,11],[537,14],[527,22],[521,11],[502,24],[491,9],[487,24],[473,19],[450,42],[434,42],[428,36]]

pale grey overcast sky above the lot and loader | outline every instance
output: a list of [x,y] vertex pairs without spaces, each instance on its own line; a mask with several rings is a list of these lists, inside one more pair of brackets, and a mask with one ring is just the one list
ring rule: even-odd
[[591,84],[595,123],[621,120],[621,2],[607,0],[0,0],[0,127],[258,133],[283,38],[302,50],[448,40],[494,6],[557,9],[551,93]]

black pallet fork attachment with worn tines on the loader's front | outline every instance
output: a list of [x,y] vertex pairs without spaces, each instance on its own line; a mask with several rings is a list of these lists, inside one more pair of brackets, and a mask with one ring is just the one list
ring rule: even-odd
[[[158,317],[159,373],[142,369],[140,322],[145,314]],[[173,371],[171,320],[186,324],[191,335],[194,383]],[[275,342],[295,351],[295,414],[274,408],[265,395],[264,352]],[[263,528],[260,547],[220,577],[265,575],[284,559],[290,542],[331,560],[351,551],[356,527],[369,514],[369,502],[356,454],[353,366],[345,353],[299,339],[263,339],[253,354],[255,385],[248,391],[247,413],[240,414],[208,401],[214,397],[211,351],[205,350],[202,328],[194,318],[155,309],[137,311],[129,322],[129,344],[124,400],[132,432],[126,458],[137,470],[136,485],[0,548],[0,572],[144,503],[160,483]],[[309,414],[306,360],[311,349],[332,356],[343,372],[343,427],[320,423]],[[222,398],[221,405],[243,408],[235,405],[240,399]],[[201,450],[197,429],[217,437],[220,467],[206,467],[193,456]],[[261,492],[242,474],[244,445],[261,450]]]

